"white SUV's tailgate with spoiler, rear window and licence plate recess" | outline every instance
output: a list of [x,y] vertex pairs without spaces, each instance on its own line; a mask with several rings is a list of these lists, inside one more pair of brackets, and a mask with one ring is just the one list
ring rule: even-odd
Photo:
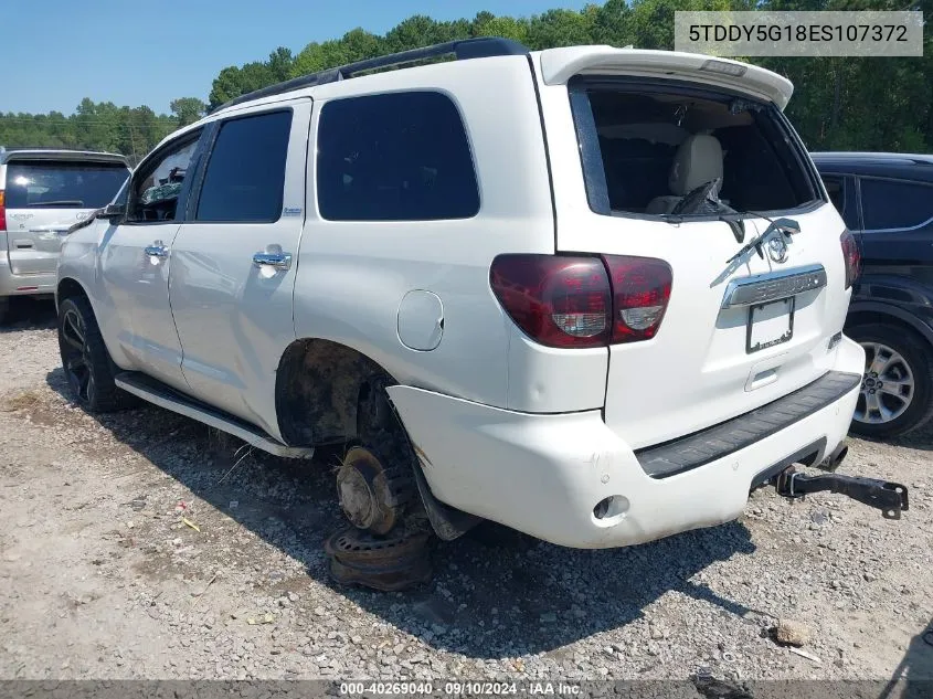
[[[656,332],[609,347],[606,423],[634,448],[645,447],[746,413],[825,373],[850,294],[845,226],[776,106],[789,84],[733,62],[704,71],[702,56],[681,65],[675,53],[571,51],[568,67],[561,55],[545,60],[550,53],[542,54],[541,77],[556,250],[656,258],[672,274]],[[553,84],[559,81],[570,88]],[[679,160],[680,145],[695,134],[704,141],[702,158],[713,157],[710,135],[721,144],[721,192],[742,212],[732,219],[743,222],[743,242],[719,214],[646,212],[655,198],[682,198],[669,189],[685,176],[677,167],[717,170],[706,160]],[[766,232],[768,219],[781,216],[799,232],[772,235],[760,252],[736,256]],[[662,282],[653,287],[637,265],[629,269],[613,279],[616,290],[664,293]],[[773,303],[742,303],[748,289],[735,288],[744,284],[752,298]],[[794,290],[772,296],[787,288]]]

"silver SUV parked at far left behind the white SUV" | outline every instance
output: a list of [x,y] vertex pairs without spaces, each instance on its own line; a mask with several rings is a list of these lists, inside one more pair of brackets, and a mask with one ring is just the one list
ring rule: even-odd
[[115,153],[0,148],[0,322],[12,296],[53,297],[63,236],[128,176]]

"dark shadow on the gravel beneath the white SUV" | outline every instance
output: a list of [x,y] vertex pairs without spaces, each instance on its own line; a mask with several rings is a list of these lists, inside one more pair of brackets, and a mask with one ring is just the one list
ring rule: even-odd
[[[61,369],[47,382],[71,400]],[[723,614],[749,611],[690,580],[715,561],[755,550],[738,522],[604,551],[563,549],[483,526],[436,546],[435,579],[421,589],[384,594],[342,587],[330,581],[322,552],[326,536],[344,526],[333,480],[337,454],[296,462],[253,452],[234,466],[235,447],[219,454],[205,427],[174,413],[145,406],[98,420],[197,497],[300,561],[308,575],[437,648],[480,658],[560,655],[566,644],[637,619],[670,591]]]

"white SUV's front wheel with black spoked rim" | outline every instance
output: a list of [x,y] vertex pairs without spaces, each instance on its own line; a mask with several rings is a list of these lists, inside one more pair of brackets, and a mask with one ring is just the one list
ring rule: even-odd
[[91,413],[107,413],[135,403],[114,383],[110,360],[91,304],[72,297],[59,304],[59,350],[75,402]]

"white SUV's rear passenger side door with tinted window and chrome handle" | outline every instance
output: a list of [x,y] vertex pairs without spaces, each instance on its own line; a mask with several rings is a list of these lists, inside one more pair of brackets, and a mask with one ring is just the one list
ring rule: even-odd
[[301,98],[213,125],[172,245],[171,308],[191,393],[273,435],[275,372],[295,339],[310,116],[311,100]]

